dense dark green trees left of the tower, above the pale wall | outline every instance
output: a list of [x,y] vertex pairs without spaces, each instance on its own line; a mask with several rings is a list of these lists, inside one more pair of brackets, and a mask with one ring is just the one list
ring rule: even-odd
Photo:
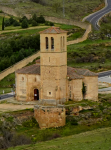
[[0,45],[0,71],[32,55],[40,49],[39,35],[15,37]]

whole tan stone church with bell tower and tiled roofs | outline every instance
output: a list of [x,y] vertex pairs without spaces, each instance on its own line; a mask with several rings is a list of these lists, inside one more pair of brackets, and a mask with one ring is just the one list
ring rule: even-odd
[[[61,103],[98,100],[98,75],[67,66],[67,31],[50,27],[40,32],[40,63],[16,71],[16,99]],[[84,83],[84,84],[83,84]]]

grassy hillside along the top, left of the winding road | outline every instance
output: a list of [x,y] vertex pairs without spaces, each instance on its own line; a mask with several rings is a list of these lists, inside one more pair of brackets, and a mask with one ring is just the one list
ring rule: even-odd
[[[104,0],[65,0],[65,17],[81,20],[84,16],[104,6]],[[63,17],[63,0],[2,0],[1,6],[14,8],[17,14]]]

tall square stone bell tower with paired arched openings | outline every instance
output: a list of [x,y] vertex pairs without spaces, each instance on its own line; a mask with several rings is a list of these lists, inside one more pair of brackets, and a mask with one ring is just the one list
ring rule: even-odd
[[66,101],[67,31],[51,27],[40,32],[41,100]]

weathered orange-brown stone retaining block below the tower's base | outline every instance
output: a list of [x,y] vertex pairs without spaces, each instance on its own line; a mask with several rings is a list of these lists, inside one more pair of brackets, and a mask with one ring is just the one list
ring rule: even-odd
[[54,106],[35,106],[34,117],[41,129],[64,126],[66,122],[65,108]]

